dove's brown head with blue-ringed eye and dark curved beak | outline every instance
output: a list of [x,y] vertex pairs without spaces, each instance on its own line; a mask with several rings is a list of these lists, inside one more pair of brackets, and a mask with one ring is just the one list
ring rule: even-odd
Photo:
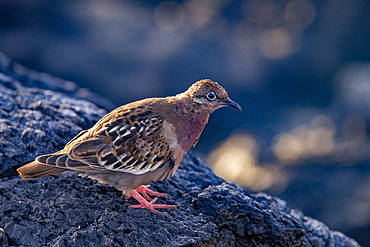
[[229,98],[223,87],[217,82],[209,79],[194,83],[185,93],[188,94],[188,97],[190,97],[202,111],[211,113],[224,106],[231,106],[242,111],[238,103]]

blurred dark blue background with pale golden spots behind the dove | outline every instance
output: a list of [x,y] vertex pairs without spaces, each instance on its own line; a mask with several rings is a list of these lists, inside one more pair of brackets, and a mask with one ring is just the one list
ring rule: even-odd
[[[0,0],[0,51],[119,106],[210,78],[193,151],[370,246],[370,3]],[[109,109],[111,110],[111,109]]]

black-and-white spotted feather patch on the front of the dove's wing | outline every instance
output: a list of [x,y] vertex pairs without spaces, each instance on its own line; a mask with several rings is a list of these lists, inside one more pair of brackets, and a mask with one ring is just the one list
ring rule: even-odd
[[97,155],[99,164],[136,175],[154,171],[172,157],[162,127],[163,119],[150,110],[117,119],[105,129],[111,145]]

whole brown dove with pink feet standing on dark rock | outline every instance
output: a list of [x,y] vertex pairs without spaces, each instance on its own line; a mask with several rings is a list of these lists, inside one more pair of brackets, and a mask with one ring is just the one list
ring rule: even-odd
[[130,208],[165,215],[157,209],[178,205],[156,204],[158,197],[168,195],[150,190],[147,184],[176,172],[184,155],[198,142],[209,115],[224,106],[242,111],[217,82],[199,80],[175,96],[118,107],[62,150],[38,156],[17,171],[25,180],[60,174],[87,176],[140,203]]

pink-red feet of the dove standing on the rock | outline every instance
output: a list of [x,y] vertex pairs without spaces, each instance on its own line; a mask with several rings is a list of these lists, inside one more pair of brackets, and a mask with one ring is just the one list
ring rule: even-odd
[[[148,186],[149,187],[149,186]],[[127,197],[126,199],[129,199],[130,197],[135,198],[140,204],[139,205],[130,205],[129,208],[146,208],[153,213],[160,214],[160,215],[167,215],[167,213],[159,212],[156,210],[156,208],[169,208],[169,209],[176,209],[178,206],[177,205],[166,205],[166,204],[155,204],[158,200],[158,198],[151,199],[149,195],[154,195],[154,196],[161,196],[161,197],[167,197],[166,194],[164,193],[158,193],[151,191],[147,189],[148,187],[146,186],[140,186],[136,190],[133,190]],[[143,194],[141,196],[140,193]],[[149,201],[147,201],[149,200]]]

